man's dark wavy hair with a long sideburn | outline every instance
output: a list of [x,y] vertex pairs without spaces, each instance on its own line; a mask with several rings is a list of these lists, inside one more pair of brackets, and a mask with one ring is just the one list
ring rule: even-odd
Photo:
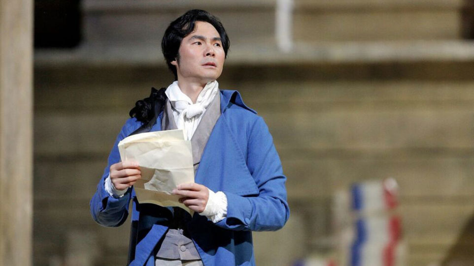
[[174,74],[174,80],[178,79],[178,75],[176,67],[172,65],[171,62],[179,59],[178,50],[181,41],[194,30],[196,21],[207,22],[214,26],[217,32],[219,32],[222,41],[222,48],[224,49],[225,57],[227,58],[230,41],[220,20],[209,12],[201,9],[189,10],[169,24],[161,41],[161,50],[166,59],[169,70]]

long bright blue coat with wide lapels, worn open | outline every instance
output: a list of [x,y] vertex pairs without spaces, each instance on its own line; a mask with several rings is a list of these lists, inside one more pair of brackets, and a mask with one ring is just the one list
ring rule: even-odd
[[[226,194],[227,217],[214,224],[195,213],[187,229],[204,266],[255,265],[251,231],[275,231],[288,220],[286,177],[264,120],[245,106],[237,91],[221,90],[220,96],[221,116],[204,148],[195,182]],[[162,114],[157,119],[152,131],[161,130]],[[110,165],[120,161],[118,142],[140,125],[130,118],[117,136],[91,212],[99,224],[119,226],[132,200],[130,265],[154,266],[153,248],[168,230],[172,208],[138,204],[133,189],[120,199],[104,190]]]

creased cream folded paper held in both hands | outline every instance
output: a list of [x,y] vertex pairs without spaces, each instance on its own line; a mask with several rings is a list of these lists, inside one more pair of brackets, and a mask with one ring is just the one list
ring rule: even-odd
[[184,140],[183,130],[164,130],[135,134],[118,144],[122,161],[134,160],[141,169],[141,178],[134,184],[139,203],[163,207],[181,207],[171,191],[179,184],[194,182],[191,141]]

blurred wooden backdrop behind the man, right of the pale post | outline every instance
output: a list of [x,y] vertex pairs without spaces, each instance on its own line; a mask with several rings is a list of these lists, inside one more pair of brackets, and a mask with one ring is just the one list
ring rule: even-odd
[[[172,82],[160,41],[192,8],[226,28],[220,87],[265,119],[288,177],[258,265],[357,265],[360,187],[396,199],[364,232],[398,217],[397,265],[474,265],[473,0],[35,0],[35,266],[125,265],[130,224],[99,226],[89,200],[135,101]],[[359,265],[395,265],[369,263],[383,252]]]

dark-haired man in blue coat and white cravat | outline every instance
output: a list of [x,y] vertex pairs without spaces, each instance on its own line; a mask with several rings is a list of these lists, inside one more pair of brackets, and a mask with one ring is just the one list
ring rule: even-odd
[[[130,265],[255,265],[251,231],[278,230],[288,220],[286,177],[265,122],[237,91],[218,88],[228,49],[224,27],[206,11],[171,22],[162,50],[176,81],[138,101],[117,137],[91,212],[115,227],[133,202]],[[195,183],[173,193],[192,217],[179,207],[139,204],[140,167],[120,162],[117,148],[131,134],[176,128],[191,140]]]

